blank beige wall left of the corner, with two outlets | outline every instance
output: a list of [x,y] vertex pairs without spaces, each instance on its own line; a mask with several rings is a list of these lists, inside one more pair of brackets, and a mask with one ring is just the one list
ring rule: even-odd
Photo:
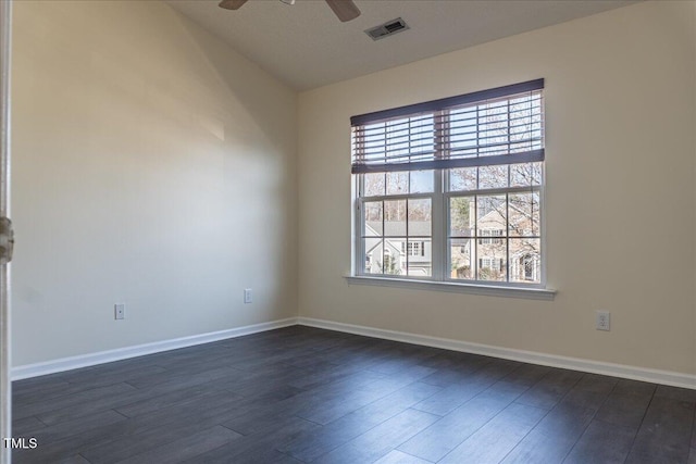
[[14,365],[295,316],[296,95],[160,2],[13,27]]

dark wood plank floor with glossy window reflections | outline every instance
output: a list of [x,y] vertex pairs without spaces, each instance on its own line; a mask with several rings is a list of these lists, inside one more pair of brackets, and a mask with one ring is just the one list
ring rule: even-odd
[[16,463],[696,463],[696,391],[310,327],[14,383]]

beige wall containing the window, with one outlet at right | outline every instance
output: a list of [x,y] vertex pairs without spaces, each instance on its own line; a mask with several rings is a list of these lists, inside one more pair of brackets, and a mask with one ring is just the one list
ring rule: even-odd
[[[641,3],[301,93],[299,314],[696,374],[695,17]],[[348,286],[349,117],[538,77],[555,301]]]

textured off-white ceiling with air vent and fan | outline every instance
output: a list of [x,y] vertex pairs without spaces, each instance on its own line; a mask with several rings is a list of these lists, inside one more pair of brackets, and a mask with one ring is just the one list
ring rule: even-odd
[[[307,90],[489,40],[599,13],[626,0],[356,0],[340,23],[322,0],[167,0],[296,90]],[[373,41],[363,30],[402,17],[409,30]]]

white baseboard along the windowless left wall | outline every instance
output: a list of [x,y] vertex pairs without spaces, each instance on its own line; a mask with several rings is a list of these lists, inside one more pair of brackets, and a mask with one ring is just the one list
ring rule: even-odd
[[142,356],[145,354],[160,353],[162,351],[176,350],[177,348],[192,347],[195,344],[210,343],[211,341],[241,337],[244,335],[273,330],[291,325],[297,325],[296,317],[289,317],[286,319],[272,321],[269,323],[254,324],[244,327],[236,327],[227,330],[194,335],[190,337],[175,338],[172,340],[154,341],[151,343],[138,344],[135,347],[125,347],[115,350],[100,351],[97,353],[82,354],[78,356],[62,358],[44,363],[25,364],[22,366],[13,367],[11,378],[12,380],[21,380],[24,378],[38,377],[40,375],[71,371],[79,367],[94,366],[97,364],[110,363],[112,361]]

